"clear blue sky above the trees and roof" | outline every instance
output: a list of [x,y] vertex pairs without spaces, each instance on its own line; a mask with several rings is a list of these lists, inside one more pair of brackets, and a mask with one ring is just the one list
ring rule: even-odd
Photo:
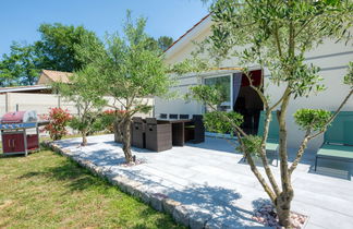
[[126,10],[148,19],[146,32],[176,39],[207,14],[200,0],[0,0],[0,56],[13,40],[39,39],[41,23],[84,25],[102,37],[121,31]]

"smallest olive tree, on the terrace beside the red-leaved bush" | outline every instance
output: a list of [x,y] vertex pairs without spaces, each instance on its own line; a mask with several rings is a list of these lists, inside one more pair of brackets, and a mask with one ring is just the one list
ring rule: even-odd
[[70,84],[56,83],[53,87],[59,94],[76,105],[78,113],[71,120],[71,126],[82,135],[82,146],[87,145],[87,134],[95,128],[95,122],[107,101],[104,93],[97,88],[96,79],[99,77],[95,69],[87,67],[75,72],[70,77]]

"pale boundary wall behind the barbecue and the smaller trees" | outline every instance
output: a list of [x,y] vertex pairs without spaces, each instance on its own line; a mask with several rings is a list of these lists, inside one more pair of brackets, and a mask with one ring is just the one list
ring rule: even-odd
[[[113,103],[112,98],[106,97],[109,104]],[[144,103],[153,106],[153,98],[145,98]],[[53,94],[27,94],[27,93],[8,93],[0,94],[0,118],[5,112],[16,111],[16,110],[36,110],[38,114],[45,114],[49,112],[50,108],[60,107],[68,109],[70,113],[76,114],[77,108],[71,101],[66,101],[60,98],[58,95]],[[106,107],[106,109],[111,109]],[[153,117],[153,111],[149,113],[136,113],[141,117]]]

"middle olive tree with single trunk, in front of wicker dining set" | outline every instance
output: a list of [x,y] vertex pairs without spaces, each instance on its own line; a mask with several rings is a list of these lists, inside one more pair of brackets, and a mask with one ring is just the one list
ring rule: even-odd
[[137,112],[151,109],[147,97],[168,94],[171,80],[163,63],[161,50],[150,48],[150,37],[144,32],[145,19],[134,23],[127,13],[124,37],[108,35],[106,46],[93,44],[77,47],[82,59],[99,73],[96,86],[114,99],[109,106],[120,110],[117,134],[122,135],[126,162],[133,161],[131,153],[131,120]]

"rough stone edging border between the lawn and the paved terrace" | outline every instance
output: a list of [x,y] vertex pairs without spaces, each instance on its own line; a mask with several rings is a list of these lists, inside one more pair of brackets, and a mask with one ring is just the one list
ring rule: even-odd
[[112,185],[115,185],[121,191],[139,198],[142,202],[150,205],[156,210],[170,214],[178,224],[192,229],[220,227],[217,224],[215,225],[215,221],[210,221],[212,215],[203,210],[202,208],[191,205],[183,205],[180,202],[169,198],[165,194],[154,193],[148,190],[148,186],[138,181],[127,179],[123,176],[112,176],[109,170],[104,170],[89,160],[84,160],[77,156],[73,156],[69,149],[61,149],[60,146],[53,142],[45,141],[41,144],[62,156],[69,157],[98,177],[107,179]]

